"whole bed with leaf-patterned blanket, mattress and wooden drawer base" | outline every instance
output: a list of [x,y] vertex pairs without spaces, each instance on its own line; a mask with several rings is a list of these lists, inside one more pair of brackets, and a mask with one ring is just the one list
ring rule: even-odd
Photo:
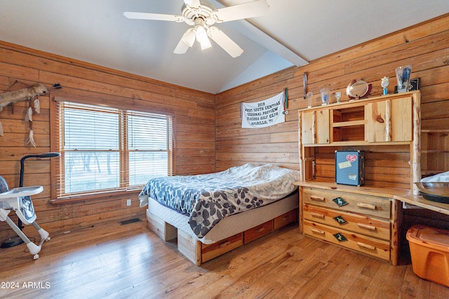
[[299,172],[246,164],[213,174],[150,179],[139,195],[151,230],[177,238],[196,265],[297,218]]

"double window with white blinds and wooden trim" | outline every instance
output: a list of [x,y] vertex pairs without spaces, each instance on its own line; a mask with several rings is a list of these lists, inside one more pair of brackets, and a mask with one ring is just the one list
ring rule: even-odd
[[141,188],[172,174],[172,117],[57,102],[57,197]]

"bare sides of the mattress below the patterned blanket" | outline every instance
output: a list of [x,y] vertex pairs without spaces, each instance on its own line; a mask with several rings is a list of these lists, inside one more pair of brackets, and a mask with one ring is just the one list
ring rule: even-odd
[[173,211],[173,209],[168,207],[164,207],[151,197],[149,197],[148,200],[147,214],[154,214],[163,219],[166,223],[173,225],[178,230],[182,230],[182,232],[185,232],[187,235],[198,239],[203,244],[213,244],[227,237],[231,237],[232,235],[236,235],[239,232],[254,228],[257,225],[281,216],[297,207],[298,193],[296,191],[282,200],[272,202],[271,204],[227,216],[217,223],[204,237],[198,237],[194,234],[189,225],[189,216],[177,213],[177,211]]

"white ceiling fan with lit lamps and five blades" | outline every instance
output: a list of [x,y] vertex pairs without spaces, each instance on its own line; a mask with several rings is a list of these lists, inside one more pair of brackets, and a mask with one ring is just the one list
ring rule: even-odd
[[208,39],[210,37],[229,55],[238,57],[243,53],[243,49],[222,32],[220,28],[213,25],[215,23],[254,18],[267,13],[268,8],[266,0],[250,1],[219,9],[215,9],[210,4],[199,0],[184,0],[184,4],[181,7],[182,15],[130,11],[126,11],[123,15],[128,19],[186,22],[187,25],[192,26],[182,35],[173,53],[186,53],[193,46],[195,39],[201,44],[201,50],[210,48],[212,46]]

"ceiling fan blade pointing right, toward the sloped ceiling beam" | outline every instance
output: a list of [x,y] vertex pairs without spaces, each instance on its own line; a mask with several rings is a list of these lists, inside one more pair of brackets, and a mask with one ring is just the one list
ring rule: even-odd
[[269,5],[265,0],[250,1],[225,8],[217,9],[213,12],[215,22],[229,22],[247,18],[259,17],[268,12]]

